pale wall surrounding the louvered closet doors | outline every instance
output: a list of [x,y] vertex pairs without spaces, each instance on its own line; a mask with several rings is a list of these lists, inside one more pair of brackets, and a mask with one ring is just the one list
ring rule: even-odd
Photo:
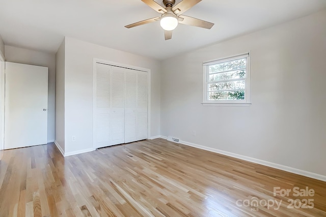
[[93,148],[93,58],[151,70],[150,131],[152,137],[160,134],[158,61],[69,37],[65,47],[65,153]]

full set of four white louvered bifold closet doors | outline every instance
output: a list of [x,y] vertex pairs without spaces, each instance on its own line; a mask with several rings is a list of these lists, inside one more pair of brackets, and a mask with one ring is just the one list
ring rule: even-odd
[[148,138],[148,73],[94,64],[94,147]]

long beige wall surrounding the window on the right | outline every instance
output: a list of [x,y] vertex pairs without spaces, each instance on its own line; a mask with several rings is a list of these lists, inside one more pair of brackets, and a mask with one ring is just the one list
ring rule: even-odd
[[[323,11],[164,61],[161,134],[326,175],[325,26]],[[202,63],[247,51],[252,105],[203,106]]]

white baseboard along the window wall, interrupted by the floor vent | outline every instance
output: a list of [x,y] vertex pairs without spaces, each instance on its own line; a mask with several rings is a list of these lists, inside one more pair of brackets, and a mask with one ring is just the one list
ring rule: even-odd
[[[160,136],[160,138],[167,139],[167,137],[164,137],[164,136]],[[215,148],[210,148],[210,147],[206,147],[206,146],[202,146],[202,145],[198,145],[198,144],[194,144],[194,143],[189,143],[189,142],[186,142],[186,141],[181,141],[180,140],[179,143],[181,143],[183,145],[191,146],[191,147],[194,147],[194,148],[199,148],[199,149],[203,149],[203,150],[206,150],[206,151],[211,151],[211,152],[215,152],[215,153],[218,153],[218,154],[227,155],[227,156],[238,158],[238,159],[241,159],[241,160],[254,162],[255,164],[260,164],[260,165],[263,165],[263,166],[283,170],[283,171],[286,171],[286,172],[290,172],[290,173],[294,173],[294,174],[297,174],[297,175],[302,175],[302,176],[306,176],[306,177],[309,177],[309,178],[313,178],[313,179],[317,179],[317,180],[326,182],[326,176],[320,175],[320,174],[317,174],[317,173],[312,173],[312,172],[308,172],[308,171],[304,171],[304,170],[300,170],[300,169],[296,169],[296,168],[292,168],[292,167],[288,167],[288,166],[284,166],[284,165],[280,165],[280,164],[275,164],[273,162],[260,160],[260,159],[253,158],[253,157],[248,157],[248,156],[235,154],[235,153],[228,152],[228,151],[222,151],[222,150],[215,149]]]

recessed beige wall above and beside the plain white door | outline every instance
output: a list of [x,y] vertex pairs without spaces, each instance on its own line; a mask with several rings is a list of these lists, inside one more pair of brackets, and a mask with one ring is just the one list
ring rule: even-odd
[[5,45],[5,58],[8,62],[29,65],[45,66],[48,74],[48,116],[47,140],[55,141],[55,83],[56,83],[56,56],[52,53],[23,49]]

